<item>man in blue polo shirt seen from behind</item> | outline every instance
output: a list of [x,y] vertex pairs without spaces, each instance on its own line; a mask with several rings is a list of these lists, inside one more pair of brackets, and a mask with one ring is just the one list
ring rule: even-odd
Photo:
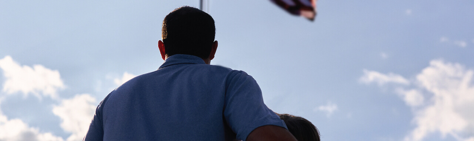
[[243,71],[210,65],[214,19],[181,7],[163,21],[157,71],[129,80],[97,106],[85,141],[296,141]]

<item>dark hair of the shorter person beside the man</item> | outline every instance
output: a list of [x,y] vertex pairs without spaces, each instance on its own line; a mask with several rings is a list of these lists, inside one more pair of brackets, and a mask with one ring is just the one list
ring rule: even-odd
[[288,131],[295,136],[298,141],[321,141],[319,131],[310,121],[294,115],[277,114],[280,116]]

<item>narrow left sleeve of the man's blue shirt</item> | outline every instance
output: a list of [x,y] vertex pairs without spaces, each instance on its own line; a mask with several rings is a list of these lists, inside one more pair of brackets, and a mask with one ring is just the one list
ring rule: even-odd
[[104,129],[102,124],[102,104],[104,101],[100,102],[99,106],[97,106],[95,110],[95,115],[92,118],[91,125],[89,125],[89,130],[87,134],[84,136],[82,141],[102,141],[104,138]]

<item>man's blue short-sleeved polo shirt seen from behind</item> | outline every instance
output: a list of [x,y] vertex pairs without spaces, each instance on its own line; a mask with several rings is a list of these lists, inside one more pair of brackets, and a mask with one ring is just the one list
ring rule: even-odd
[[105,97],[85,141],[245,141],[263,125],[286,128],[244,71],[176,54]]

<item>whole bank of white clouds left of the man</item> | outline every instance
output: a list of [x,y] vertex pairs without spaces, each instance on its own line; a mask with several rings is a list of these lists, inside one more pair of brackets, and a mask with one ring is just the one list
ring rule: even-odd
[[[7,95],[22,93],[25,97],[32,94],[40,99],[50,97],[57,100],[60,104],[54,106],[52,112],[61,118],[61,128],[71,133],[66,141],[82,141],[95,113],[94,97],[80,94],[71,99],[59,98],[57,91],[65,88],[59,71],[53,71],[42,65],[21,66],[10,56],[6,56],[0,59],[0,69],[6,78],[2,93]],[[0,103],[7,95],[0,95]],[[30,127],[20,119],[8,119],[7,115],[3,115],[0,111],[0,141],[64,141],[64,139],[51,132],[40,132],[38,128]]]

